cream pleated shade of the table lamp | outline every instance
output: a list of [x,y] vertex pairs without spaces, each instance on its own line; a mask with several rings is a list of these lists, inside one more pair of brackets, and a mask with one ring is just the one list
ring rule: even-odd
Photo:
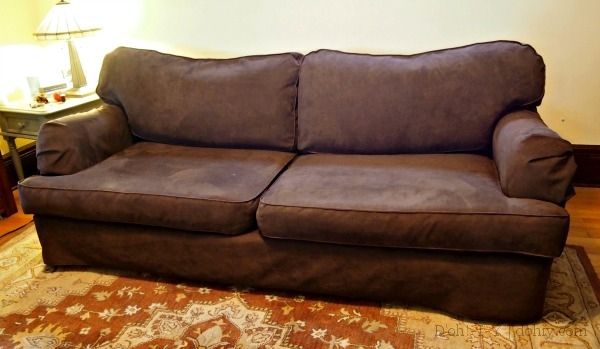
[[99,26],[86,23],[85,17],[73,4],[61,0],[50,9],[33,35],[39,40],[69,40],[100,30]]

